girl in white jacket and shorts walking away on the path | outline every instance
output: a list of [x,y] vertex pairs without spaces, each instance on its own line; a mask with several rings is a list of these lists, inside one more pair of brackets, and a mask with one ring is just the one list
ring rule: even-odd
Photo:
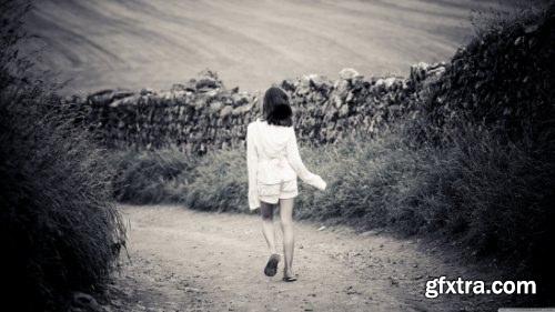
[[249,124],[246,130],[246,165],[249,171],[249,207],[260,208],[262,232],[270,249],[264,269],[275,275],[280,254],[275,249],[274,210],[280,208],[285,265],[283,280],[296,281],[293,273],[293,201],[297,195],[296,177],[320,190],[325,182],[304,167],[292,127],[292,110],[287,94],[280,88],[270,88],[264,94],[263,119]]

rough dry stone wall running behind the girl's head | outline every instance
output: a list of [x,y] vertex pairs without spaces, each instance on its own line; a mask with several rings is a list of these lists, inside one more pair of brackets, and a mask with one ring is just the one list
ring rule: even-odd
[[[421,85],[444,71],[444,63],[420,63],[406,79],[365,79],[344,69],[335,81],[310,74],[279,85],[291,97],[299,140],[321,144],[357,133],[373,137],[414,113]],[[261,95],[226,89],[205,71],[168,91],[104,90],[64,102],[83,112],[83,123],[109,148],[174,145],[202,154],[244,145],[246,125],[260,117]]]

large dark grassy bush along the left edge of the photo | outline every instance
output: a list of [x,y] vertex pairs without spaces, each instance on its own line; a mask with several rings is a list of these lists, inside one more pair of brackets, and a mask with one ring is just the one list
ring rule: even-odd
[[68,123],[74,115],[49,85],[18,76],[29,62],[17,57],[21,14],[8,14],[12,4],[1,4],[2,305],[60,311],[71,291],[107,280],[124,228],[111,203],[107,152]]

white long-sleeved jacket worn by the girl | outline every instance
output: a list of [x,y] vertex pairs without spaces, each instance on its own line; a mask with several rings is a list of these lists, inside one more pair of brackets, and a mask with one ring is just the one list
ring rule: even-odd
[[258,185],[278,184],[301,178],[316,189],[326,184],[304,167],[293,127],[251,122],[246,129],[246,168],[249,171],[249,208],[260,207]]

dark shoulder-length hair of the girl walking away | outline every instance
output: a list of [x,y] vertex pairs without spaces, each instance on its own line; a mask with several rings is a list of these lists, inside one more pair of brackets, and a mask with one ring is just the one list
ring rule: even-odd
[[289,104],[287,93],[278,87],[268,89],[264,94],[262,113],[268,124],[293,125],[293,111]]

